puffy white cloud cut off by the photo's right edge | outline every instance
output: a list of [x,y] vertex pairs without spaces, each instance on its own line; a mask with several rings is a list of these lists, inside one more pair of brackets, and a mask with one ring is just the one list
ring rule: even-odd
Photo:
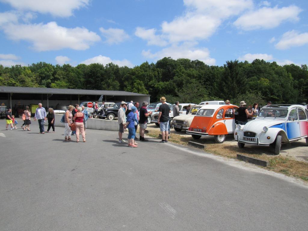
[[290,47],[300,47],[308,43],[308,33],[299,34],[296,30],[290,30],[282,35],[282,39],[275,44],[279,50],[286,50]]

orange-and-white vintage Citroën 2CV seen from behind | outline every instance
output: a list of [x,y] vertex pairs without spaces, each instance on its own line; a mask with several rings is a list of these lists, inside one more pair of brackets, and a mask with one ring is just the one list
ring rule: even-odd
[[193,118],[187,134],[194,139],[201,136],[214,136],[216,143],[223,143],[226,135],[233,134],[235,130],[235,105],[204,105]]

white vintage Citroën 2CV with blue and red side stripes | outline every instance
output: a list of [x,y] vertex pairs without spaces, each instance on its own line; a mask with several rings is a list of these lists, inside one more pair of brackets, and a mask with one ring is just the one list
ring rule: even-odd
[[278,155],[281,144],[306,138],[308,145],[308,110],[303,105],[267,105],[257,118],[245,125],[236,125],[234,139],[238,147],[245,144],[274,146]]

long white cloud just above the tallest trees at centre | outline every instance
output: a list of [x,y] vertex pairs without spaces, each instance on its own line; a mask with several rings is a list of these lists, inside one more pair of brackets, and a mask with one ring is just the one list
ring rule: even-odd
[[191,60],[200,60],[208,65],[215,65],[216,60],[210,57],[209,50],[207,48],[196,48],[192,44],[184,43],[181,46],[173,45],[158,51],[151,53],[150,50],[142,51],[142,55],[146,58],[159,60],[164,57],[171,57],[172,59],[187,58]]

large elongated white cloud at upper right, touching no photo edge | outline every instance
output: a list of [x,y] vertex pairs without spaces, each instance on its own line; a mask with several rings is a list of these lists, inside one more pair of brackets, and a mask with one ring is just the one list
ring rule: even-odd
[[283,21],[298,21],[298,14],[301,11],[297,6],[263,7],[242,15],[234,25],[243,30],[270,29],[279,26]]

